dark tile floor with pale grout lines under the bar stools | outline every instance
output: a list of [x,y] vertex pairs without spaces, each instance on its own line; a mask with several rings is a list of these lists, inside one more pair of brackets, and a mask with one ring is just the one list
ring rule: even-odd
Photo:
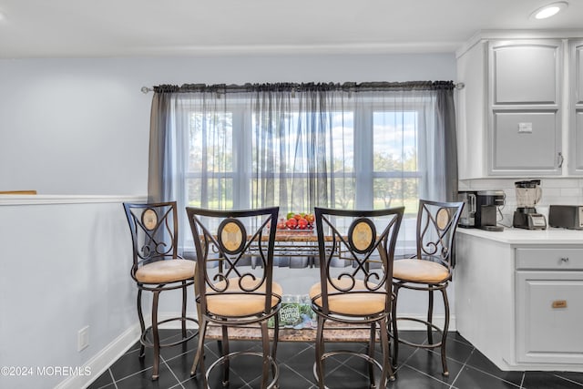
[[[177,336],[178,330],[166,330],[163,336]],[[414,341],[424,340],[424,333],[402,332],[400,335]],[[90,389],[136,389],[136,388],[199,388],[197,376],[190,377],[196,350],[195,337],[189,343],[162,349],[160,359],[160,376],[158,381],[151,381],[152,350],[146,350],[144,360],[138,358],[138,344],[132,346],[128,353],[122,355],[109,369],[99,376]],[[217,342],[207,343],[206,367],[210,366],[218,355]],[[231,351],[258,350],[255,342],[236,341],[230,343]],[[326,351],[334,348],[363,350],[361,343],[327,343]],[[438,353],[417,349],[406,345],[399,348],[399,368],[396,379],[389,384],[394,389],[583,389],[583,373],[569,372],[503,372],[489,362],[487,358],[457,333],[448,337],[447,358],[449,377],[441,374],[441,360]],[[312,343],[281,342],[278,347],[281,389],[312,389],[314,384],[312,366],[314,347]],[[230,388],[259,387],[258,357],[241,355],[231,361]],[[368,378],[360,358],[337,356],[326,362],[326,385],[331,389],[361,389],[367,387]],[[219,384],[220,368],[210,375],[210,385],[221,388]],[[378,375],[378,374],[377,374]]]

